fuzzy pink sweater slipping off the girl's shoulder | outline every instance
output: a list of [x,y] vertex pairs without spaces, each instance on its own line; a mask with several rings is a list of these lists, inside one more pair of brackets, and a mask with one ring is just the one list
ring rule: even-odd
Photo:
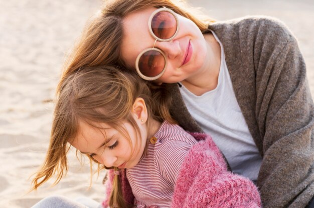
[[[191,133],[197,140],[184,159],[179,172],[171,207],[261,207],[257,187],[253,182],[227,170],[223,156],[212,140],[203,133]],[[113,171],[106,181],[107,196],[112,190]],[[134,202],[131,187],[121,171],[120,179],[125,200]],[[108,206],[109,198],[102,205]],[[155,206],[146,206],[155,207]]]

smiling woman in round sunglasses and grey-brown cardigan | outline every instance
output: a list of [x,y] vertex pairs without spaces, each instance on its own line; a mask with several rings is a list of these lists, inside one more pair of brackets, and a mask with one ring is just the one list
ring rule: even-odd
[[256,181],[264,207],[314,206],[313,102],[297,42],[282,23],[203,20],[169,0],[109,1],[59,86],[82,66],[103,64],[165,84],[174,118],[211,134],[231,169]]

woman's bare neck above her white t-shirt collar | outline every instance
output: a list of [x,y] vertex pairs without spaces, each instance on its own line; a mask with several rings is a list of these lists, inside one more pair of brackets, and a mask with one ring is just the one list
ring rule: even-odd
[[195,95],[202,95],[217,87],[221,62],[221,48],[212,33],[204,34],[207,43],[207,58],[195,74],[181,83]]

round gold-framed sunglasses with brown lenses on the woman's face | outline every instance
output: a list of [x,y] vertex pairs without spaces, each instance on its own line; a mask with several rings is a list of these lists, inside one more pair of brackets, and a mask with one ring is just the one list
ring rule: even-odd
[[156,41],[170,41],[179,31],[177,14],[169,8],[156,9],[148,19],[148,28],[155,38],[152,47],[142,50],[136,57],[135,67],[138,75],[146,80],[155,80],[163,75],[167,67],[167,56],[155,47]]

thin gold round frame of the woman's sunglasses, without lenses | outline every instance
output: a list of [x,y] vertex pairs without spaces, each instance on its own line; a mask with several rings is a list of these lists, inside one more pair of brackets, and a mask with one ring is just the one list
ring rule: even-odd
[[[156,35],[153,33],[153,31],[152,31],[152,29],[151,29],[151,21],[152,21],[152,18],[154,17],[154,15],[155,15],[156,13],[158,13],[158,12],[160,12],[160,11],[167,11],[167,12],[171,13],[171,14],[175,17],[175,19],[176,19],[176,21],[177,21],[177,29],[176,29],[176,32],[175,32],[174,35],[172,35],[172,36],[171,36],[170,38],[168,38],[168,39],[159,38],[158,36],[156,36]],[[178,19],[177,14],[176,14],[173,10],[171,10],[170,8],[166,8],[166,7],[162,7],[162,8],[158,8],[158,9],[154,10],[154,11],[150,14],[149,19],[148,19],[148,28],[149,28],[149,33],[150,33],[150,35],[151,35],[153,38],[155,38],[156,40],[161,41],[161,42],[167,42],[167,41],[170,41],[170,40],[172,40],[173,38],[175,38],[176,35],[177,35],[177,33],[178,33],[178,31],[179,31],[179,26],[180,26],[180,23],[179,23],[179,19]],[[156,42],[156,41],[155,41],[155,42]],[[142,50],[142,51],[137,55],[136,61],[135,61],[136,72],[138,73],[138,75],[139,75],[141,78],[143,78],[143,79],[145,79],[145,80],[148,80],[148,81],[155,80],[155,79],[158,79],[159,77],[161,77],[161,76],[164,74],[165,70],[166,70],[167,62],[168,62],[167,56],[166,56],[165,52],[163,52],[161,49],[156,48],[156,47],[154,47],[154,46],[155,46],[155,44],[153,44],[153,47],[148,47],[148,48]],[[164,56],[164,58],[165,58],[165,66],[164,66],[163,70],[161,71],[160,74],[158,74],[158,75],[156,75],[156,76],[153,76],[153,77],[145,76],[144,74],[142,74],[142,73],[140,72],[140,69],[139,69],[139,67],[138,67],[138,62],[139,62],[140,57],[142,56],[143,53],[145,53],[145,52],[147,52],[147,51],[149,51],[149,50],[158,51],[158,52],[160,52],[160,53]]]

